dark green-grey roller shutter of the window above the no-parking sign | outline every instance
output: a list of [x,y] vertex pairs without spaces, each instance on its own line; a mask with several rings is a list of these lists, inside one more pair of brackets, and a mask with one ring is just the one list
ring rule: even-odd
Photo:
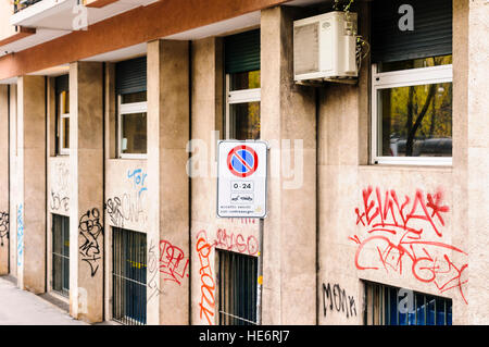
[[224,39],[226,74],[260,70],[260,29]]

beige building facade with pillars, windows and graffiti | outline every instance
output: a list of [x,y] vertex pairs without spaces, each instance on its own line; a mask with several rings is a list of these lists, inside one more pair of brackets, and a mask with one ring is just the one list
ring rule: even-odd
[[[487,324],[489,4],[348,3],[2,0],[0,274],[90,323]],[[294,82],[333,10],[358,77]],[[265,219],[216,216],[223,139]]]

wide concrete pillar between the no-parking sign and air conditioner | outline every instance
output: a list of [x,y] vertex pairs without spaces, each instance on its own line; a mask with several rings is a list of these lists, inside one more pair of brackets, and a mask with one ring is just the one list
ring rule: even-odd
[[[261,138],[272,145],[263,240],[264,324],[316,321],[315,89],[293,84],[292,24],[298,14],[290,8],[261,14]],[[300,179],[291,182],[290,172]]]

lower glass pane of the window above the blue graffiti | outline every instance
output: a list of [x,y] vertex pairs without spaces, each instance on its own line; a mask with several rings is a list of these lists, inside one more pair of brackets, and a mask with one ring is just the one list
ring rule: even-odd
[[147,114],[128,113],[121,115],[121,152],[146,153],[147,152]]

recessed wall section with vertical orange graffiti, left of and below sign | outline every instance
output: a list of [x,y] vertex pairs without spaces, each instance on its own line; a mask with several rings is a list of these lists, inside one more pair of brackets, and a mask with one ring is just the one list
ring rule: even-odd
[[[226,249],[258,257],[259,221],[216,218],[216,145],[223,120],[223,42],[192,41],[191,55],[191,324],[218,322],[217,252]],[[220,132],[220,133],[215,133]],[[244,240],[239,245],[236,239]],[[246,247],[244,247],[246,246]]]

